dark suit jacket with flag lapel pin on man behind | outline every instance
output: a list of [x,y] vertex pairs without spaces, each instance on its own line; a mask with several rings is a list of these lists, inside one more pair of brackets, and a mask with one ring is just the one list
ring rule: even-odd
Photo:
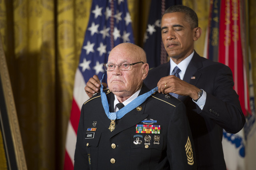
[[[170,62],[151,69],[144,83],[152,89],[160,78],[169,74]],[[200,57],[195,52],[183,80],[206,91],[203,110],[190,97],[178,97],[186,105],[198,169],[226,169],[222,150],[223,128],[237,133],[246,122],[238,95],[233,90],[232,71],[226,65]]]

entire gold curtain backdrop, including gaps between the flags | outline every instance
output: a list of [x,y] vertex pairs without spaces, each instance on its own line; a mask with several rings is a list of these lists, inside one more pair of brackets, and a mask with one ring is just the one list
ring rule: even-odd
[[[63,169],[74,74],[91,3],[92,0],[0,0],[0,33],[29,170]],[[203,34],[195,49],[203,55],[209,2],[183,0],[183,4],[198,14]],[[249,4],[252,30],[256,3],[250,0]],[[128,8],[135,43],[143,46],[150,0],[128,0]],[[251,31],[250,37],[254,34]],[[250,44],[253,47],[255,40],[250,39]],[[255,48],[252,59],[255,65]]]

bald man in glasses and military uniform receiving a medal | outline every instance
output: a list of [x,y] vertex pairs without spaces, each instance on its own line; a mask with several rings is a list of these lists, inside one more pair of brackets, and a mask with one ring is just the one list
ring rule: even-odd
[[196,169],[185,105],[143,84],[144,50],[119,44],[104,67],[109,89],[82,106],[74,169]]

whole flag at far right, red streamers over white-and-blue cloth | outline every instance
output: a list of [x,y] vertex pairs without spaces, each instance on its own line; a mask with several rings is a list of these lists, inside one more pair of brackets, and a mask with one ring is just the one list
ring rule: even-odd
[[209,59],[230,67],[233,73],[234,89],[239,95],[242,111],[246,116],[246,124],[237,134],[230,134],[223,130],[224,158],[228,170],[249,170],[256,165],[254,161],[256,117],[252,67],[250,67],[252,64],[246,36],[249,32],[248,23],[246,23],[248,16],[245,10],[248,1],[211,0],[210,4],[204,53]]

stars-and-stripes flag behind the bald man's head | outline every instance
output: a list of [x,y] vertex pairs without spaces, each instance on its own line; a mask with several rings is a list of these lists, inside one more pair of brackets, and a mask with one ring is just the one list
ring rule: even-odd
[[[74,169],[76,134],[80,109],[89,99],[84,91],[93,75],[102,77],[103,64],[113,47],[123,42],[134,43],[131,17],[126,0],[93,0],[85,33],[80,62],[75,74],[73,102],[68,122],[64,170]],[[103,80],[106,82],[106,79]]]

